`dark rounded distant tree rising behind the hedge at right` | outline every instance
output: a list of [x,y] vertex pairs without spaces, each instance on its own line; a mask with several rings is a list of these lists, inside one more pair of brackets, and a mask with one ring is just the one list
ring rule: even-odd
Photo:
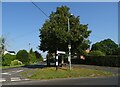
[[91,50],[99,50],[106,55],[113,55],[118,49],[118,45],[111,39],[105,39],[92,45]]

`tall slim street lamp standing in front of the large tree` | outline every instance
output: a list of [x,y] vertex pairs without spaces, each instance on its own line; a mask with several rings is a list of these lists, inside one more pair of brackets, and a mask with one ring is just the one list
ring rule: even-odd
[[[71,14],[72,16],[73,14]],[[68,19],[68,32],[70,32],[70,21],[69,21],[69,17],[67,17]],[[69,49],[69,55],[68,55],[68,62],[69,62],[69,67],[71,70],[71,41],[69,39],[69,43],[68,43],[68,49]]]

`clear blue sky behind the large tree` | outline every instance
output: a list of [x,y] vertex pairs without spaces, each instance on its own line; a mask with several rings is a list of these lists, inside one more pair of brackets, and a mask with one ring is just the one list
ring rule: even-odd
[[[75,16],[80,16],[81,24],[88,24],[92,33],[92,44],[104,39],[118,43],[118,3],[117,2],[35,2],[48,16],[56,7],[66,5]],[[31,2],[2,3],[2,34],[8,50],[38,50],[39,29],[46,17]],[[30,43],[30,45],[29,45]],[[39,51],[45,57],[46,53]]]

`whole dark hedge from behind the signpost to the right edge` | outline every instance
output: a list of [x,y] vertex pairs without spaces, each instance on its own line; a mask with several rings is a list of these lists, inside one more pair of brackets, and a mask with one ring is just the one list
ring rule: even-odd
[[[50,62],[54,59],[50,59]],[[60,62],[60,61],[59,61]],[[68,59],[64,59],[64,63],[68,63]],[[110,66],[110,67],[120,67],[120,55],[111,56],[86,56],[85,60],[80,58],[72,58],[72,64],[86,64],[86,65],[98,65],[98,66]]]

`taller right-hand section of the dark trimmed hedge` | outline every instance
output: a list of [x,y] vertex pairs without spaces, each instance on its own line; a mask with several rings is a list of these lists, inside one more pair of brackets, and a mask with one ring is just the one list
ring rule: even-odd
[[120,67],[120,56],[87,56],[85,64]]

